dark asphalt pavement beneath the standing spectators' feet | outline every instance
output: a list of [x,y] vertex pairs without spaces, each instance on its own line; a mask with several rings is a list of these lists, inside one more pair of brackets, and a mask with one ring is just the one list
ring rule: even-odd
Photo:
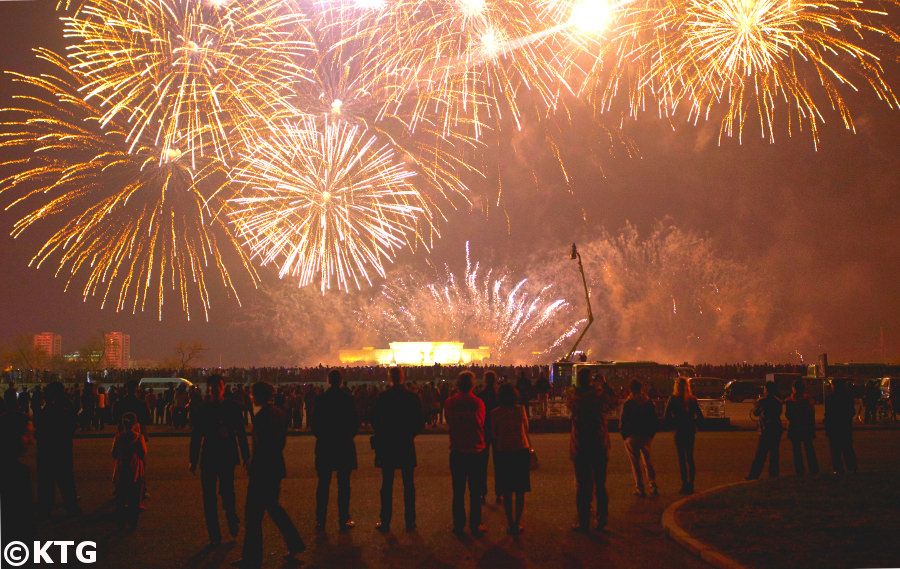
[[[890,432],[892,435],[894,432]],[[862,435],[862,434],[861,434]],[[699,475],[697,489],[742,479],[755,446],[752,432],[700,433],[697,439]],[[872,431],[858,437],[860,463],[865,465],[881,452],[880,435]],[[891,439],[894,443],[896,437]],[[81,503],[87,512],[80,520],[55,517],[44,527],[47,538],[91,539],[98,542],[97,568],[204,568],[228,567],[239,558],[239,546],[222,546],[209,552],[200,500],[200,482],[187,469],[188,440],[157,438],[150,441],[147,466],[151,499],[136,533],[124,534],[109,519],[111,459],[109,439],[79,439],[75,443],[76,480]],[[335,505],[331,504],[327,533],[315,537],[313,502],[315,472],[312,467],[312,437],[292,437],[286,452],[288,479],[282,488],[282,504],[288,509],[310,545],[298,559],[304,567],[335,569],[485,567],[653,567],[702,568],[703,561],[669,540],[660,523],[663,510],[681,496],[678,466],[670,433],[661,433],[653,445],[653,458],[662,495],[639,499],[631,495],[631,474],[621,437],[613,435],[609,468],[610,525],[608,531],[582,536],[569,530],[574,517],[574,482],[568,459],[567,435],[534,435],[540,469],[533,473],[533,492],[528,495],[523,523],[525,534],[514,541],[506,535],[502,508],[489,505],[485,523],[488,535],[479,540],[460,539],[450,532],[450,477],[447,437],[419,437],[416,470],[418,526],[413,534],[397,531],[382,535],[375,531],[380,471],[373,466],[367,438],[358,437],[360,470],[352,480],[351,511],[357,528],[338,534]],[[820,456],[827,457],[823,437],[817,439]],[[787,446],[785,446],[785,449]],[[33,452],[32,458],[33,458]],[[881,453],[883,454],[883,453]],[[785,456],[790,468],[790,459]],[[395,529],[402,528],[400,481],[395,491]],[[489,482],[490,484],[490,482]],[[243,511],[246,478],[236,483]],[[332,491],[334,500],[334,490]],[[223,520],[224,529],[224,520]],[[285,553],[277,530],[264,526],[266,567],[285,565]]]

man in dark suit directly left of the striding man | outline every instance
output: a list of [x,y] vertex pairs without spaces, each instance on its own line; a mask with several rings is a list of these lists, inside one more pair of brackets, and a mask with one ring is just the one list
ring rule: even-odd
[[234,503],[234,467],[241,462],[247,465],[250,449],[240,408],[233,401],[225,400],[225,379],[218,374],[209,376],[206,393],[207,399],[197,408],[194,417],[190,468],[194,473],[200,464],[206,530],[210,545],[218,545],[222,543],[222,533],[216,506],[216,484],[228,520],[228,531],[237,537],[240,520]]

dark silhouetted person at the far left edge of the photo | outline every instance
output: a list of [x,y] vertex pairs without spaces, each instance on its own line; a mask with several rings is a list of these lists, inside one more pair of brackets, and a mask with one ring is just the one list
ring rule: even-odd
[[33,430],[24,413],[0,414],[0,533],[3,544],[35,539],[31,472],[20,462],[31,446]]

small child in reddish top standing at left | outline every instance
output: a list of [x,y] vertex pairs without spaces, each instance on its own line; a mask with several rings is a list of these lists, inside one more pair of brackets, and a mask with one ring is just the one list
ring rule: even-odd
[[144,459],[147,456],[147,443],[134,413],[122,415],[113,439],[112,455],[116,461],[113,480],[116,484],[116,512],[123,525],[134,529],[141,512]]

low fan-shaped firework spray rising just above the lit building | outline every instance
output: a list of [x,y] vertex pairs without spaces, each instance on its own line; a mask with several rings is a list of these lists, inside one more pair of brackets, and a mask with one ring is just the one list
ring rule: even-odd
[[569,320],[564,299],[548,298],[550,286],[534,289],[528,279],[514,282],[502,270],[483,271],[469,259],[468,245],[466,253],[461,276],[445,268],[434,280],[400,277],[384,285],[364,322],[391,339],[489,346],[494,361],[547,355],[584,324]]

